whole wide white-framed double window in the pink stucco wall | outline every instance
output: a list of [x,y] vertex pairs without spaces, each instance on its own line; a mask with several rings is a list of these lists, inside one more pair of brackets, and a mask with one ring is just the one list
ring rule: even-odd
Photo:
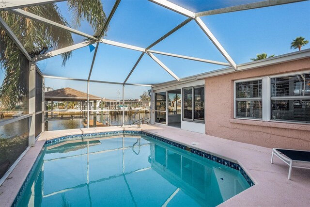
[[238,80],[234,118],[310,123],[310,72]]

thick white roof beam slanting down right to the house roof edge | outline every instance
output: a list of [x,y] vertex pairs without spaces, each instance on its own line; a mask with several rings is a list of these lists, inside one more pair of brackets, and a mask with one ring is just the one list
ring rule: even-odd
[[222,45],[217,41],[217,38],[212,34],[209,28],[204,24],[200,17],[196,17],[195,21],[200,26],[202,31],[209,37],[211,42],[217,47],[219,52],[224,56],[224,58],[231,64],[234,70],[237,70],[237,64],[233,61],[231,56],[226,52],[226,50],[222,47]]

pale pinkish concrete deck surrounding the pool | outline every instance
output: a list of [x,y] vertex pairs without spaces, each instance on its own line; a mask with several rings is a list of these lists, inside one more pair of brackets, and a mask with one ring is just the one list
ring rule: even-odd
[[[185,144],[190,148],[209,152],[218,157],[237,161],[247,172],[255,185],[220,204],[232,206],[310,206],[310,170],[293,168],[291,180],[287,179],[288,165],[279,158],[270,163],[271,148],[239,143],[206,134],[181,130],[163,125],[141,125],[137,127],[101,127],[62,131],[49,131],[41,134],[36,146],[31,147],[17,164],[16,168],[0,187],[0,207],[12,205],[20,187],[46,140],[70,134],[84,134],[117,130],[143,130],[168,140]],[[195,143],[193,145],[192,143]],[[275,146],[276,147],[276,146]]]

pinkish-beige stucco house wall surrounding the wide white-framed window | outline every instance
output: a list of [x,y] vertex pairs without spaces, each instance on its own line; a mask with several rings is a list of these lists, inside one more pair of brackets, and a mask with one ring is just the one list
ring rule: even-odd
[[310,125],[233,119],[233,81],[310,69],[310,58],[205,79],[206,134],[265,147],[310,150]]

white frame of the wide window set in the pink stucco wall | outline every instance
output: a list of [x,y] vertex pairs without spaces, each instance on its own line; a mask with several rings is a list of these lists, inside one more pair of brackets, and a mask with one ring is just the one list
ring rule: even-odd
[[[310,70],[283,73],[283,74],[263,76],[263,77],[256,77],[256,78],[250,78],[250,79],[234,80],[233,81],[233,119],[310,125],[310,122],[290,121],[290,120],[272,120],[271,119],[271,113],[272,113],[271,100],[277,99],[277,98],[271,97],[271,79],[287,77],[287,76],[296,76],[296,75],[308,74],[308,73],[310,73]],[[260,80],[260,79],[262,80],[262,87],[263,87],[262,88],[262,101],[263,101],[263,103],[262,103],[262,111],[263,111],[262,112],[262,119],[236,117],[236,83],[237,82],[244,82],[244,81]],[[288,97],[291,97],[291,96],[283,96],[282,99],[287,99]],[[291,98],[293,98],[293,99],[302,98],[302,99],[308,100],[310,97],[309,96],[294,96]]]

